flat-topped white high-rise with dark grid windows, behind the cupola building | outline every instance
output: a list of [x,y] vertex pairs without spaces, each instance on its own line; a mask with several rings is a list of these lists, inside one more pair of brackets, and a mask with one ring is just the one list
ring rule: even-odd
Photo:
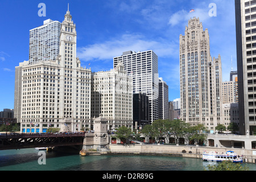
[[143,92],[148,96],[150,123],[158,116],[158,56],[153,51],[123,52],[122,56],[114,57],[114,68],[122,61],[127,75],[133,78],[133,93]]

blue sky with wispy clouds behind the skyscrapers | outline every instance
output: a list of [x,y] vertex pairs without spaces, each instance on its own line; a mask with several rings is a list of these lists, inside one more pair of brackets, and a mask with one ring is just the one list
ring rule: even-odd
[[[45,3],[46,17],[38,16],[39,3]],[[112,69],[113,57],[122,52],[153,50],[169,100],[179,98],[179,35],[193,16],[209,30],[211,56],[221,55],[222,81],[229,81],[232,65],[237,70],[234,0],[0,0],[0,111],[14,107],[15,67],[28,60],[30,29],[46,19],[62,22],[68,3],[77,56],[92,71]],[[216,16],[208,14],[210,3],[216,4]]]

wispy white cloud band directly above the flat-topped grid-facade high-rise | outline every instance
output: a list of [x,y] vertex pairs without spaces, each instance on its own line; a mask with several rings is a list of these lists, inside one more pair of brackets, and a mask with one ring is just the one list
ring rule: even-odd
[[152,50],[159,57],[173,56],[179,51],[179,45],[170,40],[148,40],[138,34],[124,34],[106,42],[77,48],[77,55],[82,61],[108,60],[122,55],[125,51]]

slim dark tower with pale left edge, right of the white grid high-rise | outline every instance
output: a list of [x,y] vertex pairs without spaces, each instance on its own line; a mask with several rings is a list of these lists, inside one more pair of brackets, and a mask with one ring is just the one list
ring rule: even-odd
[[169,119],[169,89],[163,78],[159,78],[158,109],[159,119]]

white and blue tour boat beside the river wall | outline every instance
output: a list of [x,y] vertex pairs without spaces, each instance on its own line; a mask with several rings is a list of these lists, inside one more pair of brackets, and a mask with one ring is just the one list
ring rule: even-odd
[[214,151],[203,152],[203,160],[212,162],[222,162],[224,160],[232,160],[233,163],[242,163],[242,156],[237,155],[234,151],[227,151],[225,153],[218,153]]

